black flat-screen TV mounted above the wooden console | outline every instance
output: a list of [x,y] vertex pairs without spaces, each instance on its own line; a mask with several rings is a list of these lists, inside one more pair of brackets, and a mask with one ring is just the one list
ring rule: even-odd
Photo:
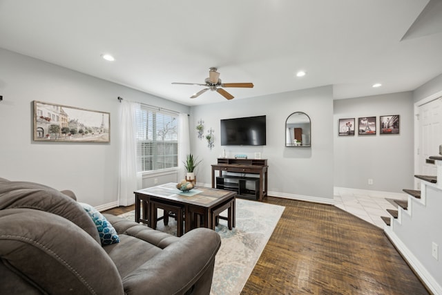
[[265,146],[265,144],[265,115],[221,120],[222,146]]

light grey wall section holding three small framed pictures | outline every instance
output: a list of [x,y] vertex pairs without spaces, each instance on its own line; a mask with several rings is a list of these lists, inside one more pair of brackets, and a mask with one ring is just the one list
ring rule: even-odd
[[[379,116],[400,115],[398,135],[379,134]],[[358,135],[358,117],[376,116],[376,135]],[[338,136],[338,120],[355,118],[355,135]],[[412,93],[334,101],[334,185],[401,193],[413,189]],[[373,184],[368,184],[368,179]]]

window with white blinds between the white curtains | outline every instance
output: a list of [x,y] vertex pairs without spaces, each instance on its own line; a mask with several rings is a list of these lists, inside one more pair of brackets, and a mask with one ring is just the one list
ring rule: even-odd
[[178,166],[178,114],[142,105],[137,111],[138,171]]

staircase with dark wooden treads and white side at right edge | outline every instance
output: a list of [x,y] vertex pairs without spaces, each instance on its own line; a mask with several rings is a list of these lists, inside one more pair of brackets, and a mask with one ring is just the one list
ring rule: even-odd
[[430,159],[437,175],[414,175],[421,190],[403,189],[407,200],[387,199],[397,209],[381,218],[385,234],[430,292],[442,294],[442,156]]

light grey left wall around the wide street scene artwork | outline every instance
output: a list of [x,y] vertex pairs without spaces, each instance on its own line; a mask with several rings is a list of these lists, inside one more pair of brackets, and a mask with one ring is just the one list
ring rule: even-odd
[[[118,96],[189,113],[189,107],[0,49],[0,177],[72,189],[94,206],[117,200]],[[32,101],[111,113],[111,143],[32,141]]]

